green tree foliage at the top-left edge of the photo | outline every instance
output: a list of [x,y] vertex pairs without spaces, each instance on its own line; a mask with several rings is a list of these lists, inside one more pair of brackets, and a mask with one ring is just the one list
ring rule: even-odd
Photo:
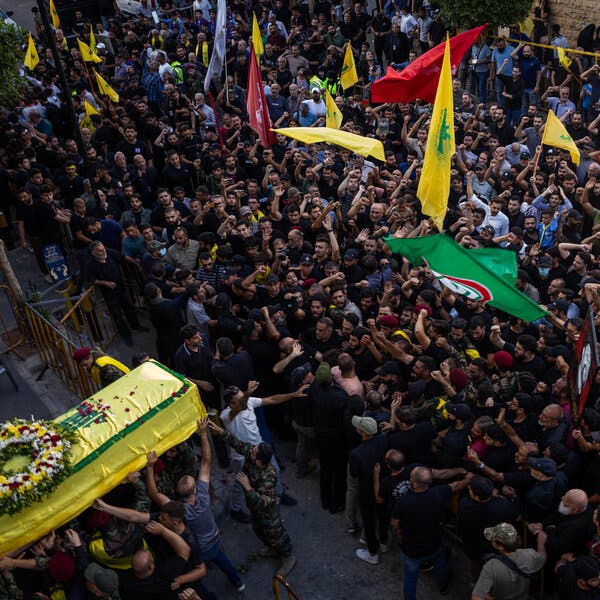
[[0,104],[9,108],[18,103],[25,88],[19,69],[25,56],[21,47],[26,42],[24,29],[0,21]]

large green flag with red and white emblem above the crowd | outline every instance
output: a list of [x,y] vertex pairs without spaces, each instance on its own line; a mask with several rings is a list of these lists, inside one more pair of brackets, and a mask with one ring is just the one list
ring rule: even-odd
[[508,250],[467,250],[445,234],[412,239],[388,237],[385,243],[392,252],[413,263],[425,259],[439,282],[455,294],[487,302],[524,321],[535,321],[546,314],[514,286],[516,259]]

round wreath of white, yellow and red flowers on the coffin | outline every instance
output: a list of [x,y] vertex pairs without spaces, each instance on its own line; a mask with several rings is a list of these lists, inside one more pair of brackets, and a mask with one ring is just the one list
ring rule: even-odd
[[71,471],[76,438],[51,421],[0,425],[0,513],[13,515],[53,492]]

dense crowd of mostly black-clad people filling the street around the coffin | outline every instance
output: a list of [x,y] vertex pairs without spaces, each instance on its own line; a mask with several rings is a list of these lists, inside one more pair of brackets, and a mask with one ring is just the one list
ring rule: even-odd
[[[0,234],[44,274],[43,249],[58,245],[140,351],[135,272],[156,348],[133,366],[150,357],[185,375],[220,418],[148,455],[142,474],[25,556],[0,559],[3,597],[213,599],[209,562],[245,593],[211,510],[211,438],[221,458],[230,449],[224,518],[251,524],[286,576],[296,559],[280,507],[303,502],[281,481],[277,444],[291,435],[295,476],[318,470],[322,509],[343,513],[356,560],[377,565],[399,545],[406,600],[430,568],[450,593],[447,530],[471,561],[473,600],[525,599],[542,572],[545,597],[600,598],[600,379],[585,407],[570,379],[600,309],[600,66],[572,54],[567,67],[536,45],[594,51],[595,28],[567,40],[542,0],[530,35],[485,32],[453,80],[444,230],[465,248],[516,253],[517,288],[547,310],[527,323],[453,293],[384,241],[437,233],[416,195],[431,106],[369,100],[385,67],[444,39],[428,2],[228,3],[227,68],[208,93],[216,7],[159,4],[125,15],[101,2],[97,22],[76,11],[49,33],[79,142],[40,31],[22,100],[1,113]],[[246,106],[252,11],[273,126],[324,125],[327,89],[342,129],[380,139],[384,162],[283,135],[261,145]],[[93,66],[118,103],[79,53],[90,25]],[[347,44],[359,81],[344,93]],[[548,109],[579,164],[541,145]],[[128,370],[99,349],[75,359],[100,385]]]

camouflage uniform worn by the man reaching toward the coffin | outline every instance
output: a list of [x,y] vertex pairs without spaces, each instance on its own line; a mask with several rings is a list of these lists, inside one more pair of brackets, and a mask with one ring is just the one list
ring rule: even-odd
[[275,493],[277,475],[272,465],[259,467],[252,462],[252,444],[241,442],[228,431],[223,433],[225,443],[231,446],[244,460],[244,473],[250,480],[252,489],[246,494],[246,504],[252,516],[252,528],[257,537],[268,548],[273,548],[282,556],[292,554],[292,541],[281,521],[279,499]]

